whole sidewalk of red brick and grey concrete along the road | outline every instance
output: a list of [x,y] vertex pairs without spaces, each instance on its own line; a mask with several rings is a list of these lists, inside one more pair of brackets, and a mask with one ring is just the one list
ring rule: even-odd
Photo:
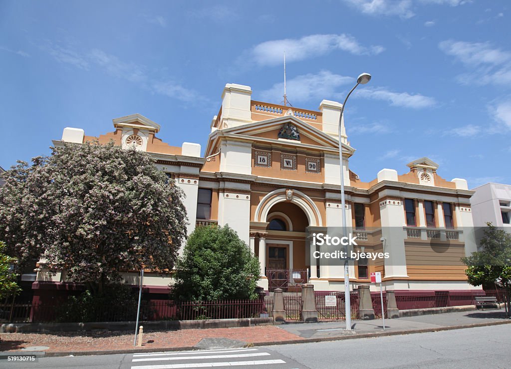
[[[147,332],[143,347],[133,347],[132,332],[2,333],[1,351],[44,351],[46,356],[93,355],[131,352],[193,350],[204,338],[228,338],[240,344],[269,345],[352,339],[380,335],[409,334],[438,330],[511,323],[503,310],[464,311],[382,320],[353,320],[354,332],[344,331],[344,321],[283,324],[247,328],[189,329]],[[47,347],[47,348],[45,348]]]

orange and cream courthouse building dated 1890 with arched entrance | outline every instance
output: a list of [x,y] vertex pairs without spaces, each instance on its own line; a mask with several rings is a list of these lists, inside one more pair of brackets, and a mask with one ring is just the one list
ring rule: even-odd
[[[62,141],[113,140],[150,153],[186,195],[188,232],[207,224],[234,228],[259,258],[259,283],[266,290],[291,290],[303,280],[315,290],[343,290],[342,265],[312,257],[321,251],[312,235],[340,227],[342,211],[357,236],[357,251],[389,253],[388,259],[350,261],[352,286],[367,284],[370,273],[380,271],[387,289],[471,288],[460,261],[476,250],[470,232],[473,192],[466,180],[440,177],[438,165],[423,157],[408,164],[408,173],[382,169],[363,182],[357,168],[349,166],[355,149],[341,122],[342,209],[341,104],[323,100],[313,111],[254,101],[251,93],[248,86],[225,85],[217,116],[210,127],[204,124],[211,133],[203,155],[199,144],[162,142],[160,126],[140,114],[113,119],[113,131],[99,137],[65,128]],[[40,274],[38,280],[48,280]],[[60,278],[57,274],[53,280],[64,282]],[[128,273],[126,281],[136,281],[135,273]],[[144,280],[154,291],[170,282],[151,273]]]

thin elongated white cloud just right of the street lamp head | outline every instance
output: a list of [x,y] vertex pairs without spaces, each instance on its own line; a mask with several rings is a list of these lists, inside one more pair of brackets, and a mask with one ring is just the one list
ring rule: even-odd
[[390,105],[401,106],[412,109],[421,109],[436,104],[435,99],[421,94],[396,93],[385,88],[366,87],[356,91],[357,97],[374,100],[384,100],[390,102]]

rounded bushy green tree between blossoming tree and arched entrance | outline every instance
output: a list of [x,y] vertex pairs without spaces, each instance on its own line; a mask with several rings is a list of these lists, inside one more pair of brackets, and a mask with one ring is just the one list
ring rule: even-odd
[[254,299],[259,260],[227,225],[199,226],[176,263],[176,300]]

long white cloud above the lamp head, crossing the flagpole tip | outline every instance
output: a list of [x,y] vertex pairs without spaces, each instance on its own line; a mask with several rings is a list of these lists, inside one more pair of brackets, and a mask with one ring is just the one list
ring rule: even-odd
[[377,55],[385,50],[382,46],[365,47],[348,34],[310,35],[299,39],[265,41],[255,45],[241,57],[241,61],[253,60],[259,65],[278,65],[286,62],[309,59],[326,55],[334,50],[355,55]]

